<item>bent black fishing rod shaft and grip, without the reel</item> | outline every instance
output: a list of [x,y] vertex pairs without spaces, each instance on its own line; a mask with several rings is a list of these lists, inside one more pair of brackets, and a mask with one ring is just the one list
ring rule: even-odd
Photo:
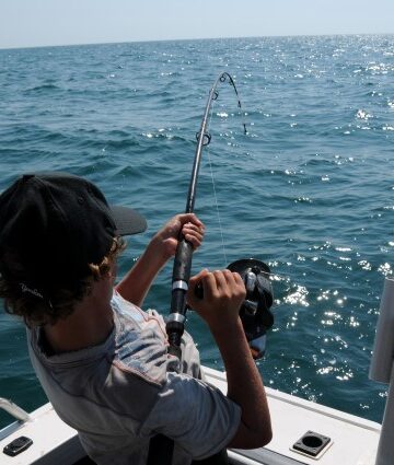
[[[229,82],[235,92],[237,106],[242,108],[240,96],[232,77],[228,72],[222,72],[212,89],[209,92],[207,105],[204,112],[200,130],[196,133],[197,147],[192,171],[189,189],[187,194],[185,213],[193,213],[196,200],[197,178],[201,161],[202,148],[207,147],[211,141],[211,136],[208,132],[208,116],[212,102],[219,97],[218,86],[220,83]],[[244,133],[246,135],[246,126],[243,123]],[[181,359],[181,339],[185,328],[186,319],[186,292],[188,289],[188,280],[190,278],[193,245],[181,236],[176,248],[173,276],[172,276],[172,297],[171,312],[166,323],[166,333],[169,336],[169,353]]]

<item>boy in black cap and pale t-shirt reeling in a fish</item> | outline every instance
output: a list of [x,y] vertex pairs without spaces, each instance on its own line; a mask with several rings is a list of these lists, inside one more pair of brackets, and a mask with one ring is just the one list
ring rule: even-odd
[[196,248],[204,224],[174,217],[114,288],[121,236],[144,229],[139,213],[109,207],[96,186],[70,174],[27,174],[0,196],[0,295],[26,323],[49,400],[97,464],[146,464],[155,434],[174,441],[174,464],[266,444],[269,411],[239,317],[241,277],[202,270],[187,294],[221,351],[224,396],[200,380],[187,334],[181,373],[169,370],[177,359],[167,354],[164,322],[140,310],[179,233]]

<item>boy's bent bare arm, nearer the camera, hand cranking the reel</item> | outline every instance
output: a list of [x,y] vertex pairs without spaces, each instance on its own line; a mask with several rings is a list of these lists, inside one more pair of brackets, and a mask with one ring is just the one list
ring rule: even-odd
[[[204,299],[194,294],[202,283]],[[237,274],[201,271],[189,281],[189,304],[208,323],[221,352],[228,379],[228,397],[242,410],[239,429],[229,447],[255,449],[271,440],[270,416],[263,381],[239,316],[245,287]]]

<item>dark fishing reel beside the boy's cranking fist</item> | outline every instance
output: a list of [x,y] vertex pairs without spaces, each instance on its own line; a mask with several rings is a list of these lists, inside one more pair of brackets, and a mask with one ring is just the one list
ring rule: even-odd
[[270,269],[264,261],[244,258],[231,263],[228,269],[241,275],[246,288],[246,298],[240,317],[252,356],[260,359],[266,349],[266,333],[274,325],[270,307],[274,302]]

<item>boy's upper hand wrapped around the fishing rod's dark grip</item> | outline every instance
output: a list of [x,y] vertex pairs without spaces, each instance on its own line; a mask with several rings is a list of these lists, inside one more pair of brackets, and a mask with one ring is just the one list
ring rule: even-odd
[[205,225],[194,213],[176,214],[154,235],[150,246],[167,260],[175,255],[181,232],[196,249],[201,245]]

